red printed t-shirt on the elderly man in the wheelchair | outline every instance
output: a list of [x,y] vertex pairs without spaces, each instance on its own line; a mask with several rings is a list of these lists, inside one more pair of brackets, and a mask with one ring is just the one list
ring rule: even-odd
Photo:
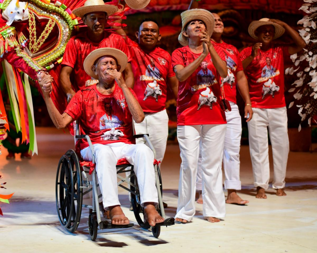
[[[133,90],[130,91],[135,96]],[[69,102],[65,112],[73,120],[80,120],[80,134],[89,135],[93,144],[135,143],[132,115],[123,91],[116,83],[115,89],[109,95],[101,94],[96,84],[81,89]],[[81,149],[88,147],[86,139],[79,142]]]

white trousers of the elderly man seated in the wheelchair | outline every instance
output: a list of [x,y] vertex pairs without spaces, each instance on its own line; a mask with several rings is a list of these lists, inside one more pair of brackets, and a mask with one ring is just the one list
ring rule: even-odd
[[[102,193],[104,208],[120,205],[117,186],[117,161],[125,158],[133,165],[138,179],[141,195],[141,205],[145,202],[158,203],[158,193],[155,186],[153,168],[153,152],[144,144],[125,144],[122,142],[107,145],[94,144],[96,173]],[[92,160],[89,147],[81,150],[85,161]]]

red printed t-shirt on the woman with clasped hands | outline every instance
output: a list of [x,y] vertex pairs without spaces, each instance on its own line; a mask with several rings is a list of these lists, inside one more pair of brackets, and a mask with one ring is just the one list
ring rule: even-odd
[[[215,46],[215,50],[220,58],[225,60],[222,48]],[[191,52],[188,46],[178,48],[172,53],[172,66],[186,67],[199,56],[200,54]],[[178,126],[226,123],[225,113],[219,105],[222,99],[219,77],[208,54],[189,78],[178,83]]]

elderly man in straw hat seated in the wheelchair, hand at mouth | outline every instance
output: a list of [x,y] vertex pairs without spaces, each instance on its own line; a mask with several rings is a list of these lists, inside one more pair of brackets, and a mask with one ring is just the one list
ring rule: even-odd
[[[158,194],[153,170],[154,155],[146,145],[133,144],[132,119],[139,123],[144,120],[144,113],[133,90],[127,87],[121,75],[127,61],[126,54],[118,49],[96,49],[87,56],[83,67],[89,76],[99,80],[97,84],[78,91],[62,115],[48,93],[44,99],[57,128],[64,128],[79,119],[81,134],[89,135],[94,146],[103,206],[109,208],[111,223],[129,224],[120,207],[115,169],[117,160],[125,158],[134,165],[145,222],[154,226],[164,221],[155,208]],[[112,118],[105,117],[110,114]],[[83,159],[91,161],[92,153],[86,139],[80,140],[80,149]]]

